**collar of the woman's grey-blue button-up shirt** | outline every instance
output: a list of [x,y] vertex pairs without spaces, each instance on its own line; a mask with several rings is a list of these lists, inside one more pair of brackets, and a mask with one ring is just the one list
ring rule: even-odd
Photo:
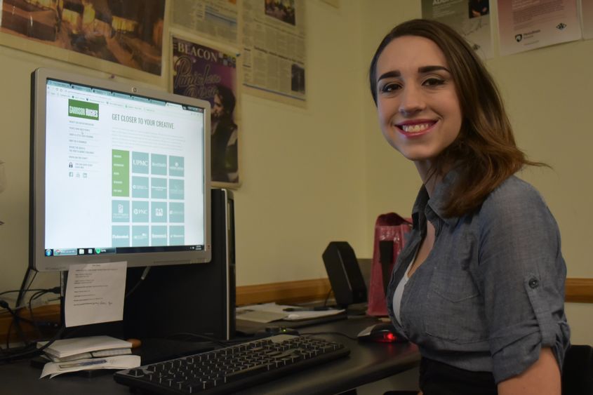
[[420,191],[418,192],[418,196],[416,196],[416,201],[412,208],[412,220],[413,220],[413,227],[418,229],[420,223],[423,222],[425,217],[425,208],[426,206],[430,206],[432,211],[437,214],[441,220],[447,223],[447,225],[455,226],[459,221],[459,217],[445,217],[444,214],[444,207],[445,203],[448,200],[449,194],[451,194],[451,189],[459,179],[459,173],[457,170],[450,170],[434,187],[434,193],[431,197],[428,196],[428,192],[426,187],[422,185],[420,187]]

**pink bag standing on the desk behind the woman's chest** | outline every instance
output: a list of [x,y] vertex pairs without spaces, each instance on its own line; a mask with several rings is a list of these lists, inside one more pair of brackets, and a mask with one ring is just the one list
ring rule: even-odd
[[369,316],[387,316],[387,285],[397,256],[404,248],[404,236],[411,230],[412,220],[404,219],[396,213],[381,214],[377,217],[366,310]]

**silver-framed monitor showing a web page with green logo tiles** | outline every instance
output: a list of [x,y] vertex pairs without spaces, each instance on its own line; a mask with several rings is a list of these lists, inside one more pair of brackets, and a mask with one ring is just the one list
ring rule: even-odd
[[37,69],[31,106],[32,268],[210,261],[208,102]]

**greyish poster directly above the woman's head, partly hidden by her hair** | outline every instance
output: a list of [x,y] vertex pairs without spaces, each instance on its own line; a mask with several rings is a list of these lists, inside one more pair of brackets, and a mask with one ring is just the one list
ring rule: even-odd
[[493,58],[489,0],[422,0],[422,18],[453,27],[480,58]]

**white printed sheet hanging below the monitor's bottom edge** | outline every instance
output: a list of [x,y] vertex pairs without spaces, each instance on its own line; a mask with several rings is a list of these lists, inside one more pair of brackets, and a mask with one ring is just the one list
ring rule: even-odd
[[66,326],[124,318],[127,262],[70,265],[66,285]]

